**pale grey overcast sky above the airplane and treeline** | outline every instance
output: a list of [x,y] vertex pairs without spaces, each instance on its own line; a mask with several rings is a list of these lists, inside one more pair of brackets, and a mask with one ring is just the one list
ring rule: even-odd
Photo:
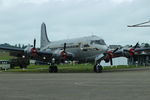
[[40,43],[41,23],[51,41],[97,35],[109,44],[150,43],[150,0],[0,0],[0,44]]

